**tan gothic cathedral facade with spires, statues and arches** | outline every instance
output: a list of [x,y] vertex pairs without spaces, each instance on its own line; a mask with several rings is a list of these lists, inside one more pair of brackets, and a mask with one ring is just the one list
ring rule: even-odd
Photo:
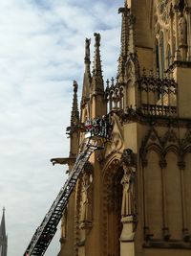
[[190,256],[191,0],[127,0],[118,12],[117,79],[104,84],[95,34],[93,73],[85,42],[80,115],[74,81],[69,172],[79,124],[109,114],[113,131],[77,181],[58,255]]

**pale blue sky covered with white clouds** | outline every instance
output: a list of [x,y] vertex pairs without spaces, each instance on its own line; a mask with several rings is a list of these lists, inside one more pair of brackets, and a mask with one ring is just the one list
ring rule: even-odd
[[[80,95],[85,37],[101,34],[104,79],[117,74],[121,5],[0,1],[0,209],[6,207],[8,256],[23,255],[66,179],[67,167],[50,159],[68,156],[65,129],[73,80]],[[45,255],[57,255],[58,238],[59,227]]]

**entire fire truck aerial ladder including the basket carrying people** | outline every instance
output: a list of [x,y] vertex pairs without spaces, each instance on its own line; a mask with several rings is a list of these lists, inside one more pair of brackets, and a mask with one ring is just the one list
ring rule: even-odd
[[[75,160],[74,168],[72,169],[64,186],[59,191],[57,197],[54,199],[50,210],[45,215],[40,226],[38,226],[34,232],[32,240],[23,256],[44,255],[49,244],[53,240],[53,236],[57,230],[57,225],[62,218],[63,211],[68,204],[68,200],[74,190],[74,186],[79,175],[84,169],[84,166],[88,162],[91,154],[94,151],[103,148],[103,141],[109,138],[112,127],[109,124],[108,118],[103,117],[102,119],[97,118],[94,121],[89,121],[85,124],[84,128],[86,131],[86,142]],[[101,147],[98,145],[98,142],[100,141],[102,143]]]

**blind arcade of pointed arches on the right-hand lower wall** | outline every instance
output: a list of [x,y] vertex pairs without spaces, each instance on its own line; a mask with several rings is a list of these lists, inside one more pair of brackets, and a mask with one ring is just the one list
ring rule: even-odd
[[[161,241],[164,246],[175,244],[181,247],[190,246],[188,242],[190,241],[191,222],[187,218],[190,206],[185,196],[190,198],[188,183],[191,177],[189,175],[191,165],[187,157],[190,150],[187,149],[191,149],[191,133],[188,129],[185,134],[182,134],[182,138],[178,134],[176,129],[169,128],[165,134],[159,136],[158,131],[152,128],[142,142],[140,156],[143,172],[146,246],[157,246]],[[152,156],[149,157],[149,155]],[[156,179],[157,176],[158,179]],[[157,189],[157,184],[152,185],[156,180],[158,180],[158,186],[160,184],[158,188],[160,205],[156,204],[154,208],[155,201],[151,202],[150,198],[152,198],[151,191],[154,193]],[[176,211],[174,211],[175,208]],[[159,212],[159,209],[162,209],[160,219],[155,219],[155,211]]]

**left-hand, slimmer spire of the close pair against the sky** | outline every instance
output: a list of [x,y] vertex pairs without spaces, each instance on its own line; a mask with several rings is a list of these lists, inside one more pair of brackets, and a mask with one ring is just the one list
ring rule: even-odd
[[82,100],[81,100],[82,105],[86,104],[90,98],[90,85],[91,85],[91,80],[92,80],[91,72],[90,72],[90,65],[91,65],[90,44],[91,44],[91,39],[86,38],[85,58],[84,58],[85,72],[84,72]]

